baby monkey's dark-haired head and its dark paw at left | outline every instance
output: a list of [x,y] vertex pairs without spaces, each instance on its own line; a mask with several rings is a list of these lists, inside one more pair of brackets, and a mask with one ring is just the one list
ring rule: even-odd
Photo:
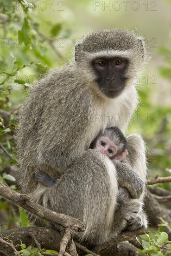
[[[119,128],[110,127],[100,132],[90,145],[91,149],[100,150],[103,155],[107,155],[114,162],[120,162],[128,154],[127,139]],[[41,182],[46,187],[52,187],[56,179],[44,173],[35,174],[36,181]]]

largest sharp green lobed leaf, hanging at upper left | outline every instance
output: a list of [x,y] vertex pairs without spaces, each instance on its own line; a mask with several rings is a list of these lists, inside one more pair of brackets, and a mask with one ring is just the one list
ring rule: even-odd
[[31,45],[30,25],[26,18],[24,18],[23,26],[21,30],[18,31],[18,34],[20,46],[23,47],[23,45],[25,45],[25,47],[29,47]]

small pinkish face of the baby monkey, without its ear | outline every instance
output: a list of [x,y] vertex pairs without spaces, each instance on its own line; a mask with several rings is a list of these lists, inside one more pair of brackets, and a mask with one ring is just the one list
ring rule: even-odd
[[97,139],[93,149],[100,150],[102,154],[109,158],[117,154],[118,148],[114,141],[111,141],[107,136],[101,136]]

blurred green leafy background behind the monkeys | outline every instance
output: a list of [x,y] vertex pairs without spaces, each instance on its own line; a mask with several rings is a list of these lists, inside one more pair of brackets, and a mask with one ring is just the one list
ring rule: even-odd
[[[74,43],[91,30],[128,28],[146,39],[152,59],[134,83],[140,105],[128,133],[147,143],[149,177],[171,175],[171,1],[0,0],[0,108],[12,115],[0,120],[1,171],[15,165],[15,127],[27,89],[49,68],[72,59]],[[8,177],[9,178],[9,177]],[[11,178],[10,178],[11,179]],[[5,183],[4,176],[1,182]],[[164,183],[165,189],[171,189]]]

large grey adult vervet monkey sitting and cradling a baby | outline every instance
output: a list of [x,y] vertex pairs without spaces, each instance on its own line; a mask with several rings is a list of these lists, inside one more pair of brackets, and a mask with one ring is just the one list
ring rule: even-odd
[[[90,243],[103,243],[126,227],[147,226],[143,193],[118,209],[116,168],[107,156],[89,149],[101,130],[117,126],[124,133],[127,129],[138,103],[131,78],[139,75],[146,60],[144,41],[133,32],[93,32],[76,44],[75,61],[33,86],[20,111],[22,192],[46,208],[82,219],[86,230],[79,236]],[[115,113],[121,116],[119,122],[110,118]],[[144,141],[139,135],[128,136],[127,150],[132,168],[145,183]],[[47,188],[35,181],[39,172],[60,178]],[[139,195],[141,189],[133,179],[133,194]]]

